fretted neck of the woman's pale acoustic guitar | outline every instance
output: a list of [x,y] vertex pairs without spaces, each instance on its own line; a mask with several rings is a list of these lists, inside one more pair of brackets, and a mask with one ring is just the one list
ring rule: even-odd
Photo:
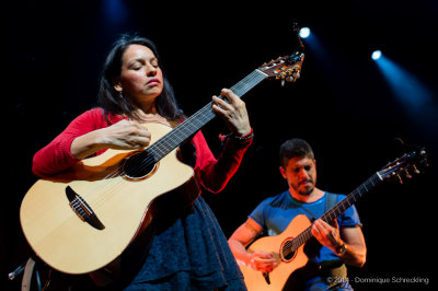
[[[243,96],[246,92],[257,85],[260,82],[265,80],[268,75],[261,70],[256,69],[239,83],[233,85],[231,90],[239,97]],[[223,98],[223,97],[222,97]],[[188,117],[177,127],[175,127],[168,135],[162,137],[155,143],[148,148],[148,151],[153,154],[155,161],[161,160],[172,150],[176,149],[181,143],[196,133],[200,128],[203,128],[208,121],[215,118],[216,114],[211,109],[212,102],[205,105],[194,115]]]

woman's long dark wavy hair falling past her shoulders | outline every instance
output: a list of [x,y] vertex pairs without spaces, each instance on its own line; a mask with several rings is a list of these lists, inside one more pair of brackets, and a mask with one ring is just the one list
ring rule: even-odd
[[[118,80],[122,73],[123,55],[130,45],[142,45],[150,48],[160,60],[153,42],[137,34],[123,34],[113,44],[103,67],[97,96],[99,105],[105,110],[106,117],[108,114],[124,114],[129,118],[136,119],[136,116],[132,115],[132,105],[126,98],[120,98],[119,92],[114,89],[114,82]],[[157,97],[155,106],[158,114],[168,119],[177,120],[184,118],[183,112],[177,106],[172,85],[164,72],[163,91]]]

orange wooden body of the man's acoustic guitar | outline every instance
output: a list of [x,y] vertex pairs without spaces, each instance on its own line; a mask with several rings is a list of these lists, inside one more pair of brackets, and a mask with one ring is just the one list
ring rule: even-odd
[[284,258],[280,254],[285,242],[291,241],[298,236],[307,228],[311,225],[310,220],[306,216],[297,216],[289,223],[288,228],[280,234],[275,236],[265,236],[258,238],[250,245],[247,252],[272,252],[277,259],[278,266],[268,273],[269,282],[265,279],[263,272],[245,266],[240,266],[245,280],[247,290],[281,290],[289,276],[297,269],[306,266],[308,257],[303,252],[304,245],[301,245],[291,256]]

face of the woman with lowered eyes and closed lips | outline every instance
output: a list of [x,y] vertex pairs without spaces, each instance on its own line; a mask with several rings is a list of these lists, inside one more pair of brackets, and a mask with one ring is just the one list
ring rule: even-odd
[[163,91],[163,74],[153,51],[142,45],[129,45],[123,55],[117,91],[137,107],[149,106]]

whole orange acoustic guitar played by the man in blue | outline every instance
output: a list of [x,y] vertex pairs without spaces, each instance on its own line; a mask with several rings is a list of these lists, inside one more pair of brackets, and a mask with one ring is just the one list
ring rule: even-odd
[[[397,177],[402,182],[401,175],[404,174],[411,177],[408,171],[414,170],[415,173],[419,173],[416,164],[422,166],[427,165],[427,155],[424,149],[412,151],[389,163],[324,213],[321,219],[331,223],[360,197],[384,179]],[[252,243],[247,247],[247,252],[272,252],[278,265],[268,273],[240,265],[247,290],[283,290],[288,278],[309,261],[303,248],[304,244],[312,237],[311,228],[312,223],[309,218],[300,214],[295,217],[287,229],[280,234],[261,237]]]

